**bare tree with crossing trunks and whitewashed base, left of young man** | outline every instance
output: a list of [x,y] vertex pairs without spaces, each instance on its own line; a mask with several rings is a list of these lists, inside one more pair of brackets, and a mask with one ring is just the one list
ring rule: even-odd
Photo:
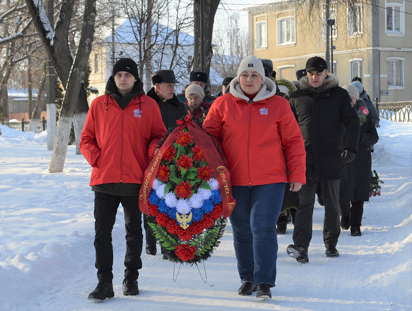
[[[94,40],[94,23],[96,17],[95,0],[86,0],[84,5],[83,27],[76,52],[73,55],[69,48],[69,27],[73,16],[74,0],[62,2],[58,22],[55,29],[50,24],[44,7],[41,3],[26,0],[35,27],[42,38],[49,57],[53,61],[56,72],[65,88],[62,109],[56,128],[56,139],[53,147],[52,160],[49,166],[51,172],[62,172],[67,153],[67,143],[70,128],[75,112],[81,124],[86,119],[86,112],[82,111],[88,107],[85,89],[82,87],[87,64],[89,61],[92,42]],[[77,131],[81,126],[75,126]]]

